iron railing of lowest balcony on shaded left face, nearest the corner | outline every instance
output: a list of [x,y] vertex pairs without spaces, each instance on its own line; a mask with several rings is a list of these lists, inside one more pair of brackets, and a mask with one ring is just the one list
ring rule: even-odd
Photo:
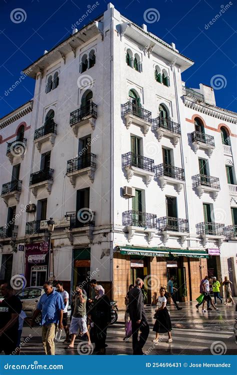
[[70,220],[70,229],[94,226],[95,224],[95,212],[89,208],[79,209],[78,212],[66,212],[65,217]]

